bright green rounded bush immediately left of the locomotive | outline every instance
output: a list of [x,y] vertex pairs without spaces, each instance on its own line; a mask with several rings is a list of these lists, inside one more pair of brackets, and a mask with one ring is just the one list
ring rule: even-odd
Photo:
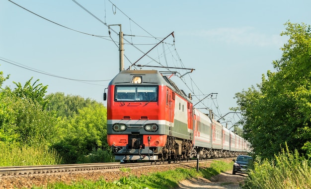
[[[78,114],[74,113],[72,117],[58,118],[61,135],[52,147],[63,156],[64,163],[83,163],[88,161],[84,155],[94,152],[94,149],[109,149],[106,116],[106,108],[101,103],[93,103],[79,109]],[[108,154],[102,156],[105,161],[111,161]]]

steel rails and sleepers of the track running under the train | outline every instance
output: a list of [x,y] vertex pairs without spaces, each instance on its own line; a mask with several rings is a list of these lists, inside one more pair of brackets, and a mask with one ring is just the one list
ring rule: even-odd
[[[219,158],[225,159],[225,158]],[[199,162],[206,162],[219,159],[200,160]],[[189,160],[177,163],[195,163],[197,160]],[[144,162],[144,163],[88,163],[88,164],[65,164],[65,165],[41,165],[41,166],[9,166],[0,167],[0,176],[9,175],[29,175],[29,174],[45,174],[45,173],[60,173],[60,172],[74,172],[74,171],[91,171],[102,169],[119,169],[119,168],[133,168],[143,166],[153,166],[158,164],[170,164],[171,162]]]

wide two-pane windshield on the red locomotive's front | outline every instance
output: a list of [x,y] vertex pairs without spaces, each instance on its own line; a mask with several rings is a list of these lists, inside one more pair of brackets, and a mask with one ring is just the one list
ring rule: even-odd
[[157,86],[116,86],[114,101],[157,101]]

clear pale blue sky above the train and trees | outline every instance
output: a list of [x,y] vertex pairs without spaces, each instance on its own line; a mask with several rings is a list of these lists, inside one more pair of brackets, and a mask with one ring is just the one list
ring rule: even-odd
[[[196,106],[212,109],[218,118],[237,106],[235,93],[274,71],[272,61],[280,59],[287,42],[280,36],[284,23],[311,24],[310,0],[77,0],[100,21],[72,0],[12,1],[57,24],[103,37],[64,28],[0,0],[0,59],[9,62],[0,61],[0,70],[10,74],[4,85],[14,88],[12,81],[24,84],[33,77],[48,85],[48,94],[79,95],[106,105],[104,88],[119,72],[120,31],[111,26],[110,38],[107,25],[122,25],[125,68],[174,31],[175,38],[169,36],[138,64],[195,69],[182,77],[187,85],[177,76],[172,79],[186,93],[200,95],[194,104],[203,94],[218,93]],[[170,70],[178,76],[187,72]],[[236,115],[225,118],[229,125],[239,120]]]

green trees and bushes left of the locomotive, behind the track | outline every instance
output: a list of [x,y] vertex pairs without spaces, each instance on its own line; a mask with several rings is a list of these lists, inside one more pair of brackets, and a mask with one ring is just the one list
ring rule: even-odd
[[[0,166],[31,165],[27,161],[39,156],[51,164],[113,161],[103,104],[64,93],[46,95],[48,86],[32,78],[24,85],[13,82],[13,89],[2,87],[8,78],[0,72],[0,150],[11,153],[0,155]],[[23,160],[27,150],[46,155]],[[55,160],[44,160],[51,157]]]

